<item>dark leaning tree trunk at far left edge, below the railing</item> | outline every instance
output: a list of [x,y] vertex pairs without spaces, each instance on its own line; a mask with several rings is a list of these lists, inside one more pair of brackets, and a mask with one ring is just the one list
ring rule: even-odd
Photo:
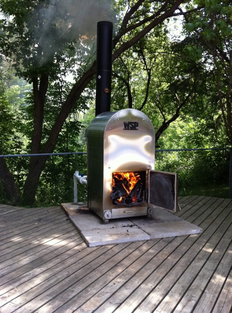
[[6,161],[4,158],[0,158],[0,179],[6,195],[9,199],[9,204],[16,204],[20,200],[20,194],[18,187],[14,182],[14,178],[10,171],[8,170]]

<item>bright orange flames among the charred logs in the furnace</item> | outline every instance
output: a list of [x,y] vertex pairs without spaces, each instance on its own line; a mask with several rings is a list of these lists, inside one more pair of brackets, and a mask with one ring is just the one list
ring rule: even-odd
[[[121,186],[125,189],[127,195],[129,195],[131,190],[133,190],[134,186],[136,185],[136,183],[141,179],[140,179],[140,175],[135,172],[115,172],[113,173],[113,179],[112,179],[113,187],[115,187],[115,180],[123,181]],[[121,202],[123,198],[125,197],[120,197],[118,199],[118,202]],[[136,201],[134,197],[132,198],[133,198],[133,201]]]

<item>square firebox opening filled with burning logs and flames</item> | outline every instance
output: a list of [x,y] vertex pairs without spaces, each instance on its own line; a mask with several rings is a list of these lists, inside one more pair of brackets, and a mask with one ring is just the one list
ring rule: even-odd
[[111,199],[114,205],[141,205],[145,192],[146,171],[112,173]]

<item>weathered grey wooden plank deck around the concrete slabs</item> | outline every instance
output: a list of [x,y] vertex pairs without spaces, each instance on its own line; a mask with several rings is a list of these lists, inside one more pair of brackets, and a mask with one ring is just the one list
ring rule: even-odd
[[230,313],[232,200],[179,203],[203,233],[94,248],[60,207],[0,205],[0,312]]

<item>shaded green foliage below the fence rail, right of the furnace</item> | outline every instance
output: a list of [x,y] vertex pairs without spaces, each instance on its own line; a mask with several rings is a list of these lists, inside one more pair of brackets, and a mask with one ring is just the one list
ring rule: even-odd
[[229,150],[156,152],[156,170],[178,174],[178,194],[228,198]]

